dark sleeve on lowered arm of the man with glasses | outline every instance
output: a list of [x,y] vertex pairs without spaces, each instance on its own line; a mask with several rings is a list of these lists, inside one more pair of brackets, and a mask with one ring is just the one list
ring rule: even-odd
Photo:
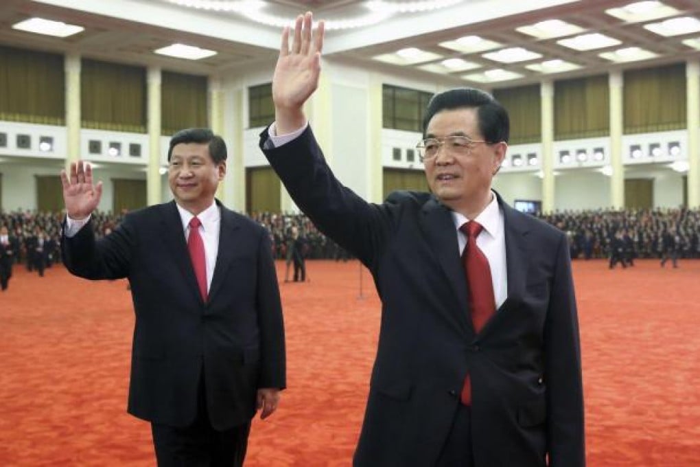
[[581,354],[571,261],[566,237],[556,251],[545,322],[549,465],[585,466]]

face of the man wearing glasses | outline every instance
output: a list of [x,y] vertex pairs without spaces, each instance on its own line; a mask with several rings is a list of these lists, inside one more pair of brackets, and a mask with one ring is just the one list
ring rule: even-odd
[[[426,138],[466,136],[484,140],[477,109],[462,108],[435,113]],[[434,158],[425,161],[426,178],[433,194],[447,207],[472,219],[491,202],[491,180],[503,162],[507,144],[476,143],[470,151],[457,152],[443,144]]]

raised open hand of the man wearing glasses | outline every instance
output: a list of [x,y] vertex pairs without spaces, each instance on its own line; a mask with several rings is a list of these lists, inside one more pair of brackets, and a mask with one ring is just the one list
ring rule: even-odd
[[272,99],[277,134],[298,130],[306,123],[302,111],[304,102],[318,87],[323,48],[323,21],[312,34],[311,12],[297,16],[294,37],[289,47],[289,27],[282,32],[279,58],[272,77]]

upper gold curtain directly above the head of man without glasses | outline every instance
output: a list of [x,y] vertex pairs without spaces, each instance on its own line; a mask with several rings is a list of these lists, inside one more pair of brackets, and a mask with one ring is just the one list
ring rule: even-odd
[[207,76],[163,71],[160,99],[162,134],[169,136],[185,128],[209,126]]

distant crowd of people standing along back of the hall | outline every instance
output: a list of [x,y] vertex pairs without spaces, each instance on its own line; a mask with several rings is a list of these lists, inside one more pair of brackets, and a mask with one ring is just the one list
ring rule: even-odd
[[[92,222],[97,235],[116,228],[124,213],[97,213]],[[679,258],[700,258],[700,210],[690,209],[596,209],[561,211],[538,215],[566,232],[573,259],[608,258],[609,267],[630,267],[636,258],[657,258],[660,265],[678,267]],[[285,280],[307,278],[304,260],[346,261],[344,249],[325,237],[303,214],[250,215],[269,231],[274,258],[286,260]],[[11,211],[0,214],[3,263],[23,264],[40,276],[60,261],[59,239],[64,214]]]

